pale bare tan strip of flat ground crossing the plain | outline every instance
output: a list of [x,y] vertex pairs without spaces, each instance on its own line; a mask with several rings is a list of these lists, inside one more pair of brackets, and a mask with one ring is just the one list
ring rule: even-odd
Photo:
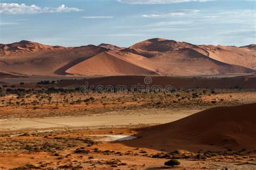
[[200,110],[169,109],[143,109],[113,111],[105,114],[76,116],[76,117],[47,117],[47,118],[22,118],[0,119],[0,131],[21,131],[80,128],[94,129],[119,128],[120,126],[138,126],[150,124],[163,124],[190,116]]

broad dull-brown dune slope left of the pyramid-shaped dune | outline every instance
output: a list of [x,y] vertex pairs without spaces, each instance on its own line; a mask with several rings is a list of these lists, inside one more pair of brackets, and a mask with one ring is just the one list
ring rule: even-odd
[[42,50],[18,56],[1,56],[0,68],[6,72],[24,75],[65,75],[65,70],[93,55],[107,51],[93,45],[65,48],[61,50]]

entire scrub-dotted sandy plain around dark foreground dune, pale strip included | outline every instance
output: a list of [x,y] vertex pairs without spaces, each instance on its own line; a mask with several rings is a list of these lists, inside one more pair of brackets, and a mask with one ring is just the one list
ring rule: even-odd
[[[0,103],[0,169],[157,169],[167,168],[164,162],[170,159],[179,160],[181,164],[176,168],[183,169],[255,169],[253,150],[233,148],[226,152],[224,148],[207,153],[202,160],[197,155],[207,151],[200,151],[200,147],[197,152],[179,151],[173,155],[164,148],[113,141],[138,134],[138,127],[176,121],[207,108],[256,101],[253,89],[214,91],[213,94],[212,89],[180,89],[172,95],[32,91],[22,98],[7,94]],[[90,97],[95,100],[87,101]],[[86,102],[76,102],[79,99]],[[179,149],[184,148],[175,148]],[[155,158],[158,154],[164,157]]]

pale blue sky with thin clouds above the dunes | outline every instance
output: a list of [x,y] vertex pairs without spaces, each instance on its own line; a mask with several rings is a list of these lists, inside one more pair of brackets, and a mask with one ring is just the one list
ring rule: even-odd
[[100,43],[129,47],[164,38],[192,44],[256,44],[256,0],[0,1],[0,43]]

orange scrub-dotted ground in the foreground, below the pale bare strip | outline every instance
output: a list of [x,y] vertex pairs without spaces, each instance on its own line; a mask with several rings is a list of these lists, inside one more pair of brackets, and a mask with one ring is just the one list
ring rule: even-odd
[[[31,133],[21,136],[0,137],[0,168],[107,168],[107,169],[159,169],[167,168],[164,162],[170,158],[154,158],[156,154],[167,154],[162,150],[130,147],[121,143],[95,143],[99,136],[127,136],[137,133],[128,129],[97,131],[56,131]],[[96,136],[96,137],[93,137]],[[89,138],[90,137],[90,138]],[[104,138],[103,138],[104,139]],[[93,142],[89,145],[89,143]],[[77,151],[80,152],[77,152]],[[198,153],[179,150],[181,155],[191,155],[179,159],[175,168],[194,169],[254,169],[255,153],[247,151],[239,155],[214,153],[206,160],[195,159]]]

